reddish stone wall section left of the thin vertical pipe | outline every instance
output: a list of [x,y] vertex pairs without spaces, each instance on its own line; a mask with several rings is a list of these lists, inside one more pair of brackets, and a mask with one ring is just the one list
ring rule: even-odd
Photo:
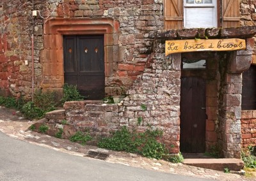
[[31,94],[30,1],[1,1],[0,8],[0,95]]

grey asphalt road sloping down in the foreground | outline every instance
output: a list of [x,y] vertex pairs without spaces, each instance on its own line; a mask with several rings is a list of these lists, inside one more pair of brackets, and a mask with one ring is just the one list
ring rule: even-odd
[[207,180],[72,156],[0,132],[0,180]]

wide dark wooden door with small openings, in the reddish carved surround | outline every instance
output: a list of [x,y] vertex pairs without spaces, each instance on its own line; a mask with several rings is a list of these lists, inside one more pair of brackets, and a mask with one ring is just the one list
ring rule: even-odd
[[64,36],[64,80],[87,99],[104,98],[104,36]]

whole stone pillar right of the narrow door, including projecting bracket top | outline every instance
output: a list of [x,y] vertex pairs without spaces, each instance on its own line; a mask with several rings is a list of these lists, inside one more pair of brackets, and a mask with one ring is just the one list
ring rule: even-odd
[[227,72],[223,76],[220,96],[222,98],[219,111],[221,148],[224,157],[240,158],[242,73],[250,68],[252,50],[231,52],[227,61]]

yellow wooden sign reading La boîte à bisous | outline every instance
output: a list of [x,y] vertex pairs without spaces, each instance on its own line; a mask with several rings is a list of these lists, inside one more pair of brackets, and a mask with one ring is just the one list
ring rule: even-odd
[[202,51],[231,51],[244,50],[245,40],[238,38],[230,39],[207,39],[207,40],[167,40],[165,41],[165,55],[182,52]]

